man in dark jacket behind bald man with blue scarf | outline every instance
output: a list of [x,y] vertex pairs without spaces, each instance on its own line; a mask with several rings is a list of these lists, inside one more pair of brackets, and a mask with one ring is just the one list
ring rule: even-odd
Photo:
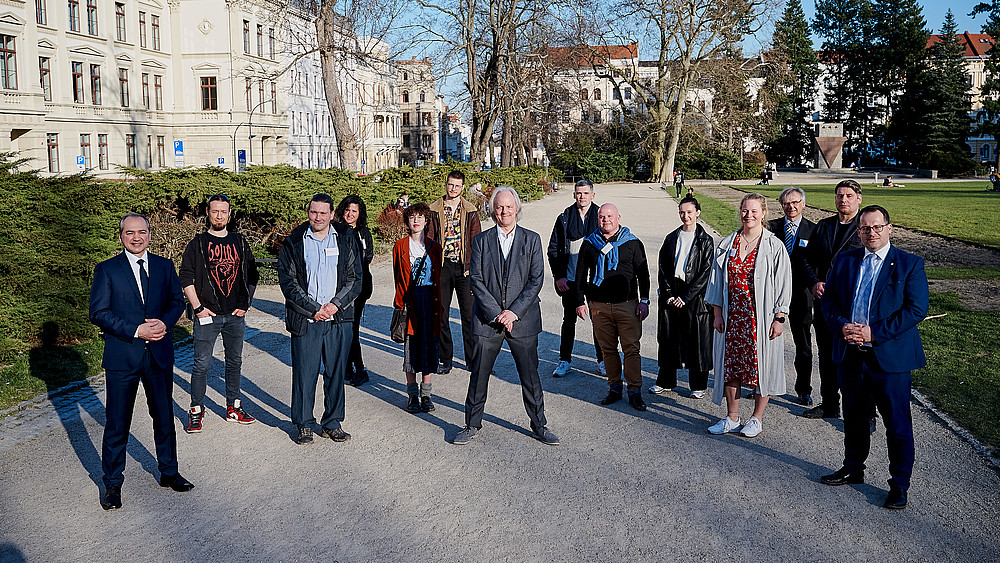
[[[553,377],[563,377],[569,373],[573,361],[573,344],[576,342],[576,264],[580,248],[587,235],[597,230],[597,206],[594,201],[594,184],[590,180],[580,180],[573,188],[575,203],[559,214],[549,237],[549,266],[552,277],[556,278],[556,294],[562,299],[563,322],[560,328],[559,363],[553,370]],[[597,372],[604,371],[604,357],[601,347],[594,340]]]

